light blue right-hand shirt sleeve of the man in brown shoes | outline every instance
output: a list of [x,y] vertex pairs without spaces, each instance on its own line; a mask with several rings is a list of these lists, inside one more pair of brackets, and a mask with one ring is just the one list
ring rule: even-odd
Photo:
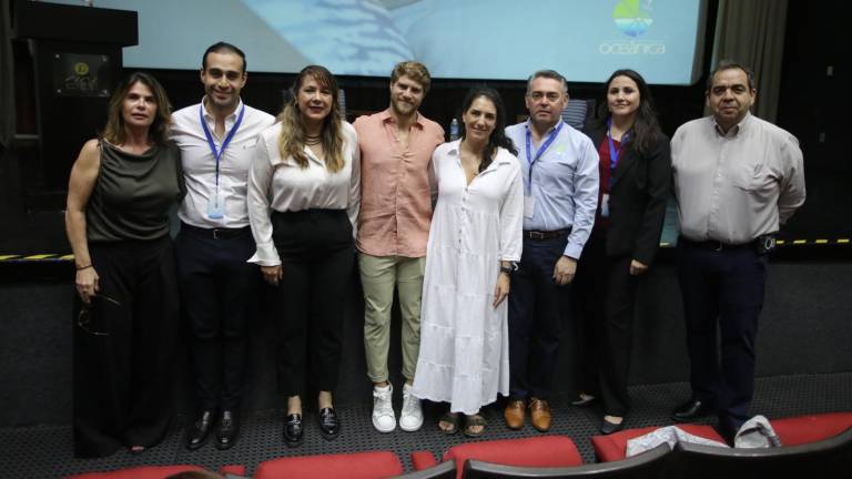
[[595,224],[595,212],[598,208],[598,152],[591,140],[585,141],[577,162],[574,183],[574,222],[565,255],[575,259],[580,258],[582,248],[591,234]]

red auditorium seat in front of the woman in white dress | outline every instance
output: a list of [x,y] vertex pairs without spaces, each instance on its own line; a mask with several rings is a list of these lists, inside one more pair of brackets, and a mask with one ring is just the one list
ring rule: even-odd
[[[558,435],[460,444],[449,448],[443,459],[445,461],[455,459],[456,477],[459,479],[468,459],[504,466],[530,467],[565,467],[582,463],[582,457],[574,441]],[[416,451],[412,453],[412,463],[415,470],[423,470],[435,466],[437,461],[432,452]]]

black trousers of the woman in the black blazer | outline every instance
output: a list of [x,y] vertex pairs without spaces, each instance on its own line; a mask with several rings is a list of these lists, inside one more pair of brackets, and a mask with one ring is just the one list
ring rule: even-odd
[[606,236],[592,233],[577,267],[574,298],[580,319],[577,364],[580,390],[600,396],[604,414],[623,417],[630,408],[636,288],[629,255],[607,256]]

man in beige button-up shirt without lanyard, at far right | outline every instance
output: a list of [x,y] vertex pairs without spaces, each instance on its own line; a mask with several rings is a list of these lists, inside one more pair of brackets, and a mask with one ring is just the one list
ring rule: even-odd
[[799,141],[749,113],[757,94],[748,68],[721,62],[707,84],[713,114],[682,124],[671,137],[692,389],[672,419],[716,412],[730,444],[754,396],[768,254],[805,197]]

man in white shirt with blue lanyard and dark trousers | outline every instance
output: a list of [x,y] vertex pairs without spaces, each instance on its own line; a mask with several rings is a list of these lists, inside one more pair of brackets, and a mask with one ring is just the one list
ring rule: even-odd
[[176,254],[199,408],[186,435],[190,450],[204,445],[214,425],[219,449],[231,448],[240,430],[247,309],[260,278],[246,263],[255,248],[246,182],[257,134],[275,121],[243,104],[245,67],[239,48],[211,45],[201,68],[206,94],[173,115],[187,190]]

